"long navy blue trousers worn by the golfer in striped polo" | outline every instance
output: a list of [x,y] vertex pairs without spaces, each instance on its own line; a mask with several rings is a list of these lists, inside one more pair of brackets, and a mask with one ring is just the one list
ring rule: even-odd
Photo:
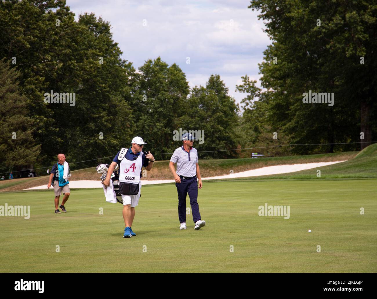
[[181,178],[181,183],[175,183],[178,191],[178,217],[179,222],[186,222],[186,197],[187,193],[190,197],[190,205],[192,211],[192,218],[194,223],[201,220],[198,204],[198,182],[196,177],[189,180]]

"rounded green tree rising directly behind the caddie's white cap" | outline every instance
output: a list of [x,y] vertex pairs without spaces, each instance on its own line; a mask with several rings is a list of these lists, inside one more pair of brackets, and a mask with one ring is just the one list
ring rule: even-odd
[[171,153],[176,146],[173,131],[179,130],[178,118],[187,111],[186,76],[177,64],[169,66],[160,57],[148,59],[139,72],[138,86],[131,99],[136,123],[134,135],[143,137],[148,143],[146,148],[153,148],[154,153]]

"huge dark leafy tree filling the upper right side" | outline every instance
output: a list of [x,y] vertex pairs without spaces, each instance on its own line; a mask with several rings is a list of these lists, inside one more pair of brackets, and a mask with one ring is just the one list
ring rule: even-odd
[[[252,1],[273,43],[259,65],[268,124],[291,143],[370,141],[376,127],[376,1]],[[368,61],[360,64],[360,56]],[[365,75],[367,74],[367,75]],[[368,77],[368,78],[367,78]],[[303,93],[334,93],[334,105],[305,104]],[[359,121],[361,117],[361,122]],[[357,129],[360,126],[360,129]],[[368,135],[368,136],[367,136]],[[366,144],[368,145],[368,144]],[[362,145],[366,146],[366,145]],[[353,147],[354,148],[354,147]],[[349,146],[318,146],[332,152]],[[295,148],[297,153],[315,147]]]

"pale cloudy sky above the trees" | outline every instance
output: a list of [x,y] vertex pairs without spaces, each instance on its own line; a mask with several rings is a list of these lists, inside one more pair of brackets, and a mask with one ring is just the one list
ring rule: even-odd
[[[219,74],[229,95],[241,76],[258,80],[258,63],[271,43],[257,12],[248,0],[67,0],[78,18],[94,12],[111,24],[113,40],[123,59],[138,69],[158,56],[169,65],[177,63],[190,87],[205,85],[211,74]],[[188,59],[189,57],[189,59]],[[190,62],[190,63],[187,63]],[[259,81],[258,81],[258,85]]]

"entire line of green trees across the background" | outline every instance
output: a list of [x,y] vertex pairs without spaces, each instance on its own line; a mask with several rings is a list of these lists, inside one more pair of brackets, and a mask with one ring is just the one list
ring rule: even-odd
[[[75,21],[64,0],[0,2],[1,170],[48,166],[58,153],[75,169],[74,162],[114,156],[136,135],[153,154],[172,153],[179,128],[204,132],[204,142],[195,143],[205,152],[201,159],[250,156],[251,151],[230,151],[237,148],[372,141],[376,10],[373,3],[335,1],[331,9],[315,3],[251,2],[273,43],[259,65],[263,89],[242,76],[236,89],[247,96],[239,107],[220,75],[190,88],[181,68],[160,57],[136,70],[121,58],[109,22],[87,13]],[[309,90],[333,92],[334,105],[303,103]],[[46,101],[46,93],[74,93],[75,104]],[[292,153],[358,148],[293,146]]]

